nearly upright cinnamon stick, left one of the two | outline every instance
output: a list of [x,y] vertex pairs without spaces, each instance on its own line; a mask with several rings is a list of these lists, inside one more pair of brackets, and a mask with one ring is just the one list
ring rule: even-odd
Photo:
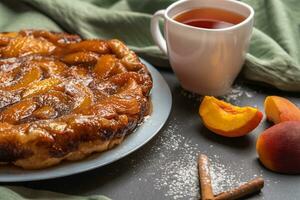
[[209,173],[208,158],[204,154],[200,154],[198,158],[199,184],[202,200],[214,200],[213,189],[211,186],[211,178]]

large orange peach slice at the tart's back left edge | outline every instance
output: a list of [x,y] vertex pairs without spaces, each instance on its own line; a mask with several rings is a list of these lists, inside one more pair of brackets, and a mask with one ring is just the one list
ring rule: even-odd
[[43,38],[18,36],[2,50],[3,57],[18,57],[29,54],[48,55],[56,47]]

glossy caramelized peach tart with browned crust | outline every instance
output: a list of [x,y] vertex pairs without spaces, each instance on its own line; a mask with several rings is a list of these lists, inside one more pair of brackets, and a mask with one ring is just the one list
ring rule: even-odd
[[0,34],[0,162],[25,169],[121,143],[148,115],[152,79],[121,41]]

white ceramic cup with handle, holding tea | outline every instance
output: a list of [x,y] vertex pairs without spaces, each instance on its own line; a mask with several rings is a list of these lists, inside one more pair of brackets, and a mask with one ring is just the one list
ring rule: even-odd
[[[222,29],[188,26],[175,21],[178,14],[196,8],[218,8],[245,17],[239,24]],[[181,0],[157,11],[151,20],[151,33],[181,86],[202,95],[227,93],[240,72],[251,38],[254,10],[236,0]],[[164,39],[159,28],[164,19]]]

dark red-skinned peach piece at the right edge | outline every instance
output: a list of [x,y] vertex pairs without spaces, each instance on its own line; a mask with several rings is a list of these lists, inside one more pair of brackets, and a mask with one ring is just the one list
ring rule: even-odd
[[266,168],[300,173],[300,121],[285,121],[268,128],[259,135],[256,150]]

